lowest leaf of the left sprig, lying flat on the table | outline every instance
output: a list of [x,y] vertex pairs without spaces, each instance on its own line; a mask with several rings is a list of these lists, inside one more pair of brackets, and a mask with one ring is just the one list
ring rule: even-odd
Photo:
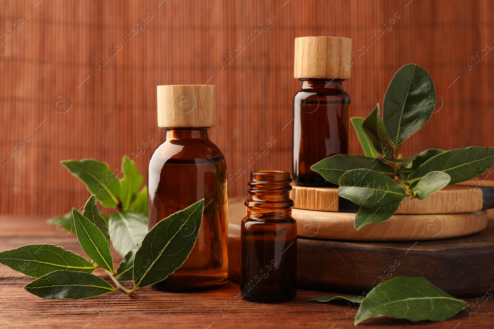
[[24,289],[45,299],[82,299],[116,291],[105,280],[89,273],[55,271],[28,283]]

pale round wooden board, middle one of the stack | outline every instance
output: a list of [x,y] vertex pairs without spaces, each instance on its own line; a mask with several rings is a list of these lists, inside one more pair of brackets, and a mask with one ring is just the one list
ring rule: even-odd
[[[228,207],[229,225],[240,230],[240,221],[247,214],[244,202],[231,202]],[[486,210],[462,214],[393,215],[390,219],[365,225],[357,231],[353,226],[353,213],[292,209],[291,215],[297,221],[299,237],[358,241],[453,238],[482,231],[488,220]]]

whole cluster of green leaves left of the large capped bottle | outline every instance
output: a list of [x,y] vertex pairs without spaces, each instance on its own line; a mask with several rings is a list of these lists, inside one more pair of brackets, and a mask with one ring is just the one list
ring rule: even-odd
[[[46,299],[81,299],[118,290],[132,295],[139,288],[164,280],[187,259],[199,234],[204,199],[159,221],[148,232],[147,189],[141,188],[142,176],[130,158],[124,156],[124,177],[120,180],[104,162],[84,159],[62,164],[93,195],[82,214],[73,208],[48,222],[75,233],[90,259],[47,244],[0,252],[0,263],[37,278],[24,289]],[[118,212],[112,216],[101,213],[96,200]],[[111,246],[125,257],[116,271]],[[91,274],[98,267],[116,288]],[[130,280],[134,286],[126,289],[121,282]]]

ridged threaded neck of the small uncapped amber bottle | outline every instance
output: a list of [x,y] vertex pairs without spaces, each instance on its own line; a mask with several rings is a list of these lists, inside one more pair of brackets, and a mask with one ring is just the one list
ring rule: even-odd
[[249,196],[245,202],[252,219],[291,218],[290,173],[261,170],[250,173]]

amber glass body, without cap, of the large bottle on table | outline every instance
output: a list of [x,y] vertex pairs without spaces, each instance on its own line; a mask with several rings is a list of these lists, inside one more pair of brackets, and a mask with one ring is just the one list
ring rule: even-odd
[[149,228],[204,198],[199,236],[189,257],[155,284],[165,291],[195,291],[228,279],[226,164],[206,129],[168,129],[148,169]]

